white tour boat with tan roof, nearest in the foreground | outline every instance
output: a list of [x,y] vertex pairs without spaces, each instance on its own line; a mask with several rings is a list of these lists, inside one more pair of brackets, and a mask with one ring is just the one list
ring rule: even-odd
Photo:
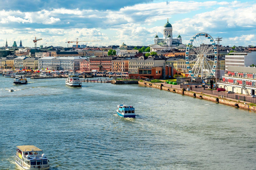
[[46,170],[49,160],[43,150],[33,145],[16,146],[15,164],[22,170]]

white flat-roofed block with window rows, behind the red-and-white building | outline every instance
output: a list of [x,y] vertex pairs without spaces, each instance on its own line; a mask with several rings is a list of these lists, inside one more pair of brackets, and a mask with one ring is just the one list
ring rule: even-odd
[[231,52],[225,55],[225,70],[228,66],[248,67],[256,64],[256,51]]

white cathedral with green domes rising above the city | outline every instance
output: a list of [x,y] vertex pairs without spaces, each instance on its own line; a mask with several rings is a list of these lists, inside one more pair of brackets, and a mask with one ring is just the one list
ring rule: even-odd
[[159,38],[157,35],[155,36],[154,44],[150,46],[150,51],[170,50],[177,46],[185,46],[182,44],[182,38],[180,34],[178,35],[177,38],[173,38],[172,25],[169,23],[168,19],[167,23],[164,25],[163,35],[163,38]]

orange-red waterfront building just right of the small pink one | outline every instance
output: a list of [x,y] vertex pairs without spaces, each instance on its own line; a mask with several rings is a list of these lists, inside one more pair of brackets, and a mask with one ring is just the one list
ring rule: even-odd
[[113,57],[90,57],[90,71],[112,71],[112,59]]

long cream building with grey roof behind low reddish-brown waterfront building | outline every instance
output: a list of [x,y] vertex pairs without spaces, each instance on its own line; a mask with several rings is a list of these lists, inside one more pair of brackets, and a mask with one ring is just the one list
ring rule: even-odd
[[144,56],[140,56],[140,57],[136,57],[136,58],[132,58],[129,59],[129,72],[130,73],[138,73],[138,68],[140,67],[162,67],[164,65],[165,62],[165,58],[161,58],[158,56],[149,56],[144,57]]

